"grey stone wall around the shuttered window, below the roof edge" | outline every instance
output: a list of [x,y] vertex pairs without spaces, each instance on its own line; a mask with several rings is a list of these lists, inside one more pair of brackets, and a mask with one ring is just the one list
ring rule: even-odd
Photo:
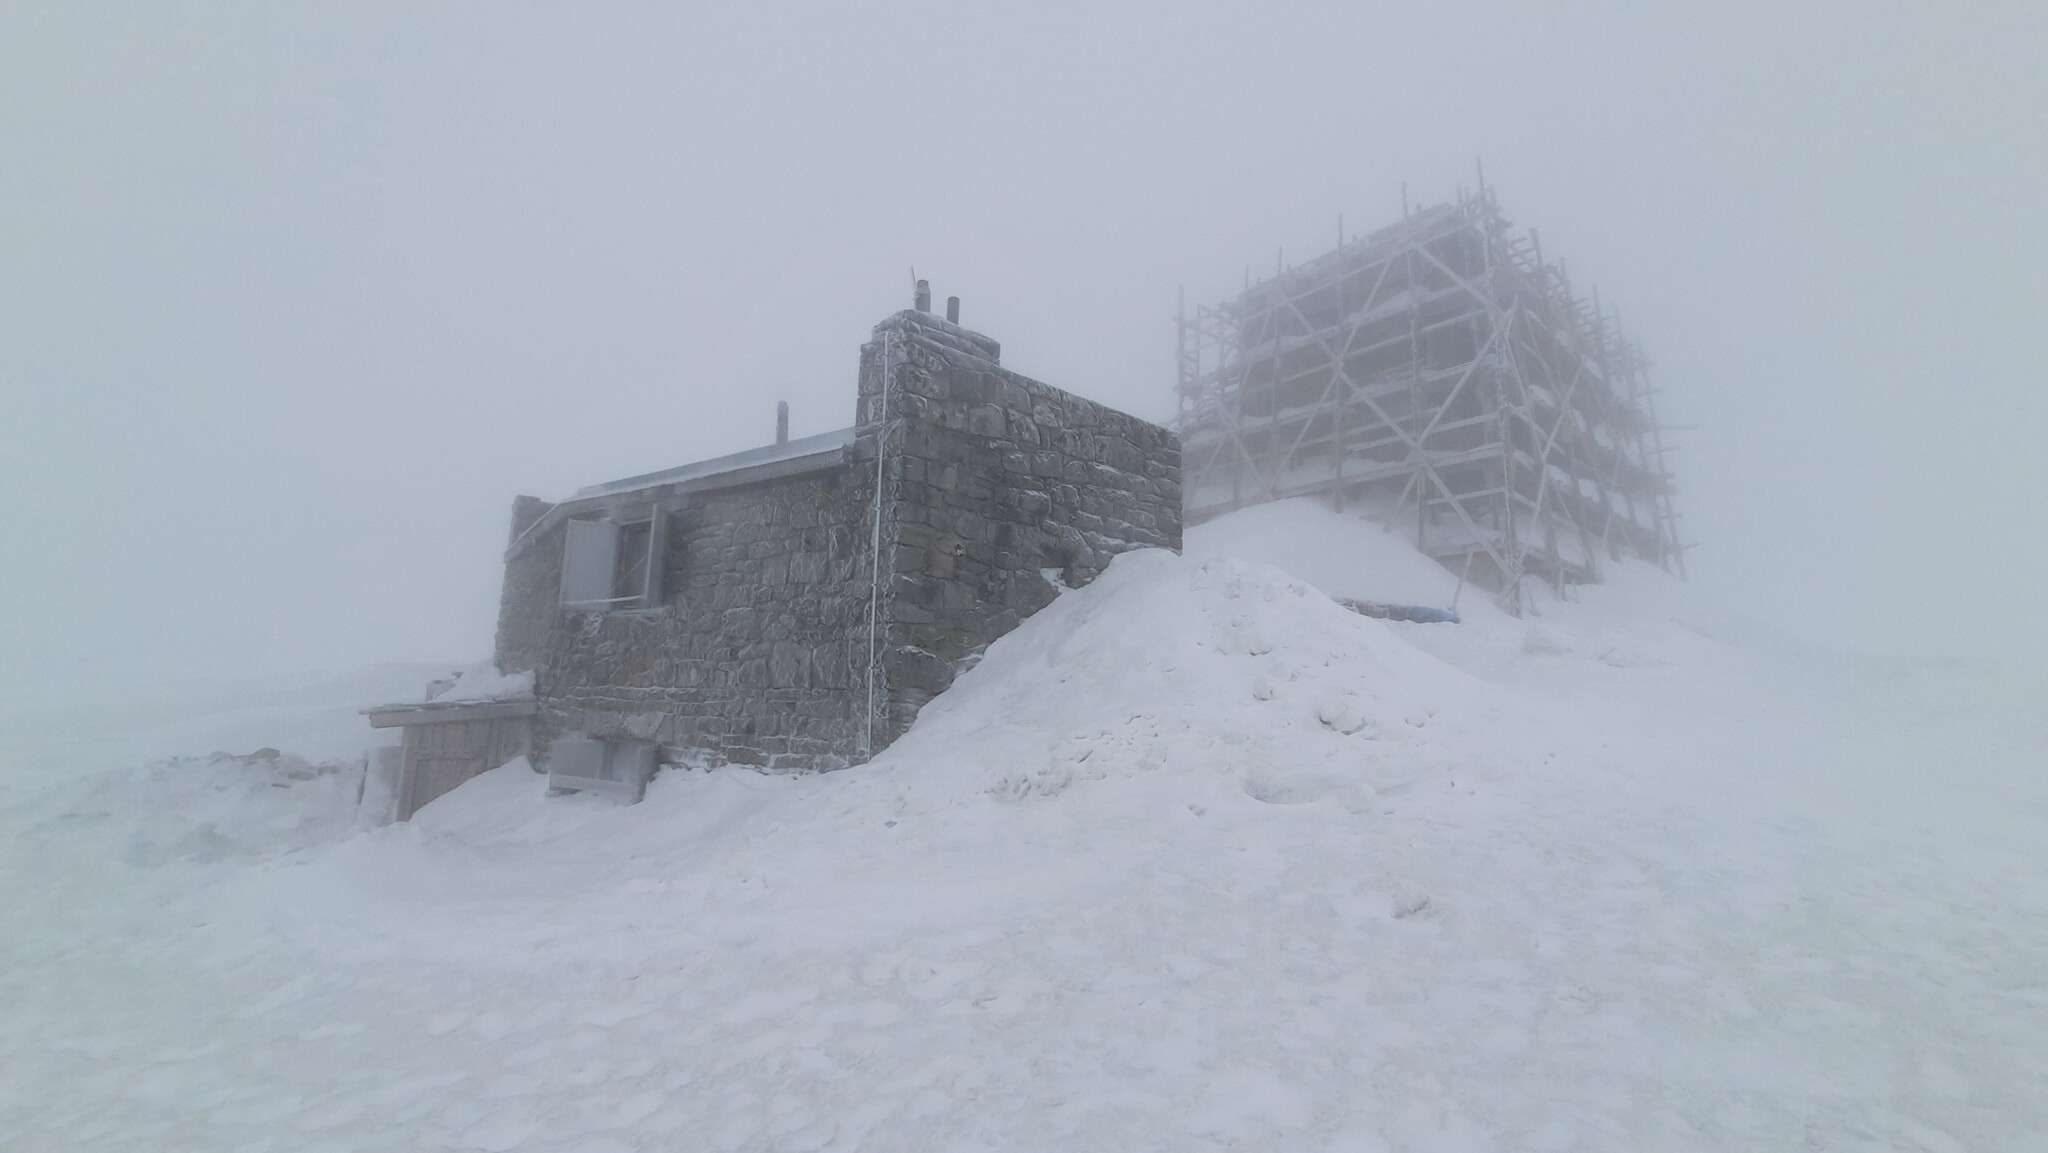
[[[842,465],[659,498],[651,608],[561,608],[563,528],[537,537],[506,565],[498,631],[500,668],[535,670],[537,745],[575,731],[651,739],[670,762],[850,764],[866,727],[870,494]],[[535,616],[549,621],[539,647]]]

